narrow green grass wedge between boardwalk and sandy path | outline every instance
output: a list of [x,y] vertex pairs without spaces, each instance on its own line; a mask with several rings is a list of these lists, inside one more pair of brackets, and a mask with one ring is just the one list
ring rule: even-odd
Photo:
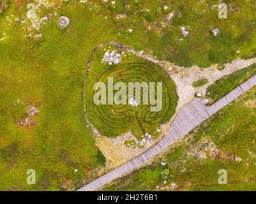
[[206,96],[210,99],[210,103],[213,104],[254,75],[256,75],[256,65],[252,64],[248,68],[236,71],[231,75],[220,78],[215,84],[209,85]]

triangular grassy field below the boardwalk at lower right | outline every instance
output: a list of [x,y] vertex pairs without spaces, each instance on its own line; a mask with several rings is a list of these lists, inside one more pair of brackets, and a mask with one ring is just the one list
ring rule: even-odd
[[[225,82],[229,81],[222,80],[223,86],[218,90],[225,90]],[[255,190],[255,94],[253,88],[177,142],[165,156],[105,190]],[[227,185],[218,184],[221,169],[227,171]]]

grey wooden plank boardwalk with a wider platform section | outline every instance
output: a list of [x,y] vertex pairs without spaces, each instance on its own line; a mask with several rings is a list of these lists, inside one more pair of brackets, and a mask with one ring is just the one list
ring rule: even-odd
[[125,173],[135,170],[135,168],[139,167],[143,163],[146,163],[146,161],[162,152],[164,149],[169,147],[169,145],[192,131],[193,128],[197,127],[199,124],[204,122],[204,120],[211,117],[211,115],[221,110],[224,106],[234,101],[234,99],[238,98],[255,85],[256,75],[245,83],[239,85],[233,91],[229,92],[229,94],[224,96],[212,106],[205,106],[200,99],[195,99],[192,103],[185,106],[181,112],[179,112],[167,135],[158,144],[140,156],[128,161],[128,163],[119,166],[115,170],[110,171],[102,177],[80,188],[78,191],[94,191],[100,187],[103,187],[112,180],[121,177]]

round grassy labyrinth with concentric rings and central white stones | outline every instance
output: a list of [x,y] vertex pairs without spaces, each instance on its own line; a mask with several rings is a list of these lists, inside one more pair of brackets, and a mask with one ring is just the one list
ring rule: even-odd
[[[107,51],[106,51],[107,50]],[[117,50],[121,61],[117,64],[102,62],[105,52]],[[93,101],[94,94],[99,89],[94,90],[96,82],[103,82],[108,93],[108,79],[113,79],[114,84],[123,82],[126,85],[126,104],[108,105],[108,95],[106,94],[106,105],[95,105]],[[128,82],[162,82],[162,108],[158,112],[151,112],[151,107],[156,104],[143,104],[143,91],[140,91],[140,98],[129,98]],[[149,90],[149,89],[148,89]],[[154,90],[154,92],[153,92]],[[114,95],[119,92],[113,91]],[[154,99],[157,96],[157,85],[154,83]],[[135,90],[134,90],[135,93]],[[135,96],[135,94],[134,94]],[[138,101],[134,101],[140,99]],[[91,61],[91,68],[87,77],[86,85],[86,114],[87,119],[93,124],[94,128],[105,136],[118,136],[128,131],[138,139],[142,140],[144,135],[151,135],[156,138],[160,134],[160,124],[168,122],[174,115],[177,105],[176,85],[169,77],[168,73],[157,64],[136,57],[130,52],[120,52],[118,48],[107,45],[96,50]],[[143,135],[143,136],[142,136]]]

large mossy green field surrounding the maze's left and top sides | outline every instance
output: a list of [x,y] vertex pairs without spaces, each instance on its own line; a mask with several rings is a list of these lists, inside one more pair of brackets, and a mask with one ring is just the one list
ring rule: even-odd
[[[49,0],[54,6],[41,4],[33,22],[26,18],[26,6],[40,0],[7,2],[0,14],[1,190],[74,190],[102,166],[105,159],[85,128],[82,88],[87,57],[103,41],[182,66],[222,64],[255,54],[252,1],[227,1],[229,17],[221,20],[212,8],[219,1]],[[57,25],[61,15],[70,18],[65,29]],[[183,25],[189,26],[186,38]],[[211,33],[213,27],[220,30],[218,36]],[[18,126],[29,106],[39,110],[35,124]],[[26,183],[31,168],[36,185]]]

